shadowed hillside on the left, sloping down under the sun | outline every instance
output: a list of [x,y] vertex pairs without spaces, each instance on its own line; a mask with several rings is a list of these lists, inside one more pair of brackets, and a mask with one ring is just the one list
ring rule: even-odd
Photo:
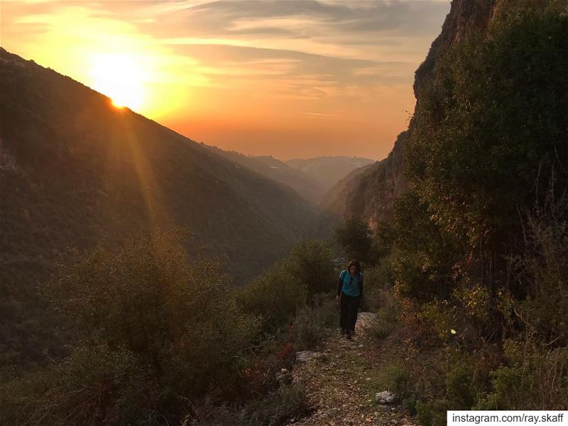
[[315,217],[290,188],[111,107],[107,97],[68,77],[4,49],[0,61],[6,362],[40,350],[33,341],[48,327],[16,324],[42,317],[35,288],[56,263],[69,260],[68,249],[84,253],[97,244],[115,246],[135,230],[184,226],[194,235],[188,249],[205,244],[224,256],[240,284],[290,249]]

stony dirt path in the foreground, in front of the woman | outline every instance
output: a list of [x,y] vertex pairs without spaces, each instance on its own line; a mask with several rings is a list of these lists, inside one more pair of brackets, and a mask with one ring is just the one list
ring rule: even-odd
[[323,342],[318,358],[295,366],[294,382],[305,389],[313,412],[288,425],[414,425],[400,407],[375,402],[375,393],[384,389],[370,384],[378,368],[367,333],[372,317],[360,314],[353,340],[341,339],[338,332]]

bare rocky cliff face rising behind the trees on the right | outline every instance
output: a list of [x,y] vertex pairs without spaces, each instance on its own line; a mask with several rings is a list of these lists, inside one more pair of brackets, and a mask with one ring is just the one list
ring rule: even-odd
[[[437,58],[452,43],[458,43],[472,29],[483,31],[500,6],[508,0],[453,0],[442,26],[442,32],[432,43],[430,52],[416,70],[414,92],[420,102],[420,87],[430,76]],[[404,176],[404,149],[408,131],[400,133],[393,151],[371,168],[359,168],[339,182],[324,197],[327,212],[344,219],[357,217],[373,229],[378,222],[390,222],[393,218],[393,201],[408,190]]]

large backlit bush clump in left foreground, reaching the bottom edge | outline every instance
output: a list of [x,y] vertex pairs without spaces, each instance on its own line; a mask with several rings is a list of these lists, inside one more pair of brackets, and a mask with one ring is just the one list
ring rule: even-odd
[[231,298],[219,264],[188,259],[182,239],[177,230],[143,234],[61,268],[46,293],[79,343],[33,420],[175,418],[183,398],[236,380],[258,324]]

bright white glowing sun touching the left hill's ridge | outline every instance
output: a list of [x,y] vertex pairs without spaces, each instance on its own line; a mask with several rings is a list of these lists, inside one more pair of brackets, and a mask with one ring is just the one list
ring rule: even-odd
[[148,76],[140,59],[117,53],[95,54],[89,74],[92,88],[111,98],[115,107],[143,107]]

